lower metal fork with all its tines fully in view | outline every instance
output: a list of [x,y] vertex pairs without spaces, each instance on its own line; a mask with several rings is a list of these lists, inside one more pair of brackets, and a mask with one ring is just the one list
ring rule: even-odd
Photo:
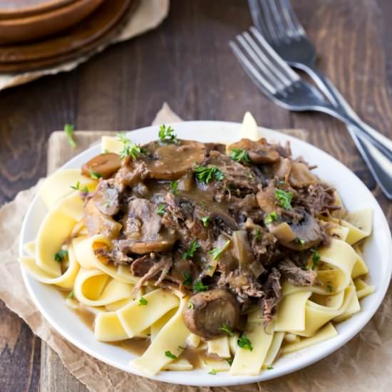
[[250,32],[252,36],[244,31],[236,37],[237,42],[230,41],[229,46],[256,86],[269,99],[288,110],[319,111],[339,118],[347,125],[355,125],[352,128],[353,134],[356,132],[361,138],[367,138],[385,154],[385,156],[382,155],[373,145],[370,146],[376,151],[378,165],[385,168],[383,186],[386,188],[388,195],[392,195],[391,150],[384,148],[378,140],[374,140],[371,135],[357,127],[354,120],[346,114],[344,108],[336,108],[331,103],[326,102],[324,96],[314,86],[301,79],[279,57],[257,29],[251,27]]

